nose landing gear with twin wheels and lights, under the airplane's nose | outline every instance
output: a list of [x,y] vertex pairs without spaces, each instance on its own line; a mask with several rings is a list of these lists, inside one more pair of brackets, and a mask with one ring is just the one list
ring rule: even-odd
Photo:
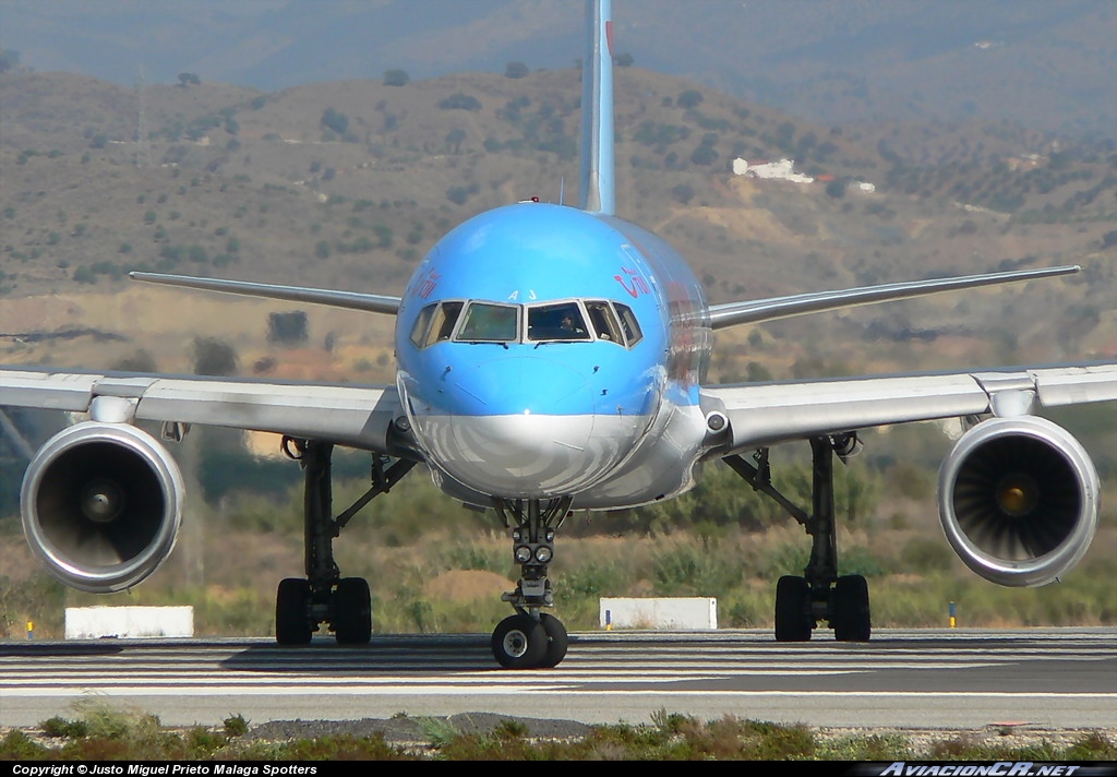
[[500,599],[516,609],[493,632],[493,657],[505,669],[552,669],[566,655],[570,639],[562,622],[541,612],[554,604],[547,565],[554,558],[555,530],[570,510],[569,496],[541,500],[494,499],[493,506],[510,529],[512,555],[519,565],[516,590]]

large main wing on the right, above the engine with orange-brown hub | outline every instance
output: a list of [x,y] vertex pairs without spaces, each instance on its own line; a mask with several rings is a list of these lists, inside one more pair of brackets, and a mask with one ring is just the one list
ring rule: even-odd
[[1117,400],[1117,363],[776,381],[701,389],[728,419],[726,453],[875,426]]

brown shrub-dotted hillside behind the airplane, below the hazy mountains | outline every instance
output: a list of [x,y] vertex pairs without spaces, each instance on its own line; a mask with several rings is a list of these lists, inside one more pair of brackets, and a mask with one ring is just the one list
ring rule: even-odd
[[[577,84],[566,69],[141,95],[73,74],[3,74],[3,358],[92,367],[142,352],[187,369],[204,333],[233,342],[247,371],[274,350],[268,311],[289,306],[232,307],[140,288],[124,273],[399,293],[438,236],[470,215],[529,197],[575,200]],[[729,332],[715,377],[743,378],[750,360],[779,377],[1117,352],[1113,148],[1005,124],[868,138],[634,67],[618,69],[617,92],[619,214],[688,256],[714,302],[1009,267],[1086,271]],[[133,140],[141,108],[145,144]],[[735,176],[738,157],[787,157],[817,180]],[[386,377],[384,322],[307,313],[309,362],[323,375]],[[75,334],[88,328],[99,334]],[[285,353],[274,369],[315,371],[296,366],[306,360]]]

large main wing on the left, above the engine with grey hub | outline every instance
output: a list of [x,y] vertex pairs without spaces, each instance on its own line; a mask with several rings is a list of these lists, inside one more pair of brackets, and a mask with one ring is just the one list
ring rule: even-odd
[[394,386],[0,369],[0,406],[274,432],[390,453]]

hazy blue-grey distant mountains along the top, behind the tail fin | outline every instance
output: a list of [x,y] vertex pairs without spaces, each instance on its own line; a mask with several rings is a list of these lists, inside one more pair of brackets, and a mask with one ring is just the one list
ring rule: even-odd
[[[615,53],[823,124],[1009,120],[1075,135],[1117,129],[1109,0],[615,0]],[[18,67],[133,85],[275,92],[389,69],[570,67],[571,0],[3,0]]]

